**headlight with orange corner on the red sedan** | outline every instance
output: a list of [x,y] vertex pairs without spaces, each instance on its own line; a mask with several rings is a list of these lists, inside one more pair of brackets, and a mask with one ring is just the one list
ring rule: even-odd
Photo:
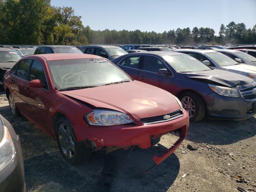
[[134,122],[127,114],[111,110],[94,110],[85,116],[90,125],[110,126]]

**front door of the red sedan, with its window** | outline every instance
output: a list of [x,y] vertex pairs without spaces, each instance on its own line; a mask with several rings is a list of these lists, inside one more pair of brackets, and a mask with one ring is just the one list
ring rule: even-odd
[[43,65],[38,60],[33,60],[28,78],[29,81],[35,79],[41,80],[44,88],[28,88],[28,100],[32,108],[30,117],[46,129],[49,128],[47,131],[50,131],[51,121],[48,110],[51,96]]

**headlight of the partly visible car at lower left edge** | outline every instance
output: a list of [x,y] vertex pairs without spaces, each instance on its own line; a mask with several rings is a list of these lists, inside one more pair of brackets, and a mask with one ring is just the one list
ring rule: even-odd
[[12,136],[6,126],[3,126],[4,134],[0,142],[0,171],[3,170],[15,156],[15,148]]

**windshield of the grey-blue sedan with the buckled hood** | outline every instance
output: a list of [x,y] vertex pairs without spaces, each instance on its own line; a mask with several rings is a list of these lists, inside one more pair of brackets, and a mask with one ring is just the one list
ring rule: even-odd
[[163,58],[178,72],[197,72],[212,70],[196,58],[189,55],[170,55]]

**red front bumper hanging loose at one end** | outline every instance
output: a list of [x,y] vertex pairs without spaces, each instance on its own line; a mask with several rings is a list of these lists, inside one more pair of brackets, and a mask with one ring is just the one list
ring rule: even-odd
[[152,139],[175,130],[181,130],[180,138],[171,148],[166,150],[161,156],[154,156],[154,166],[156,166],[170,156],[185,139],[188,132],[189,117],[185,110],[183,110],[183,113],[182,117],[174,120],[148,125],[144,125],[142,122],[135,122],[136,125],[84,127],[72,124],[72,127],[76,132],[78,142],[84,140],[92,141],[98,149],[104,146],[113,146],[115,148],[139,146],[142,149],[146,149],[151,146]]

